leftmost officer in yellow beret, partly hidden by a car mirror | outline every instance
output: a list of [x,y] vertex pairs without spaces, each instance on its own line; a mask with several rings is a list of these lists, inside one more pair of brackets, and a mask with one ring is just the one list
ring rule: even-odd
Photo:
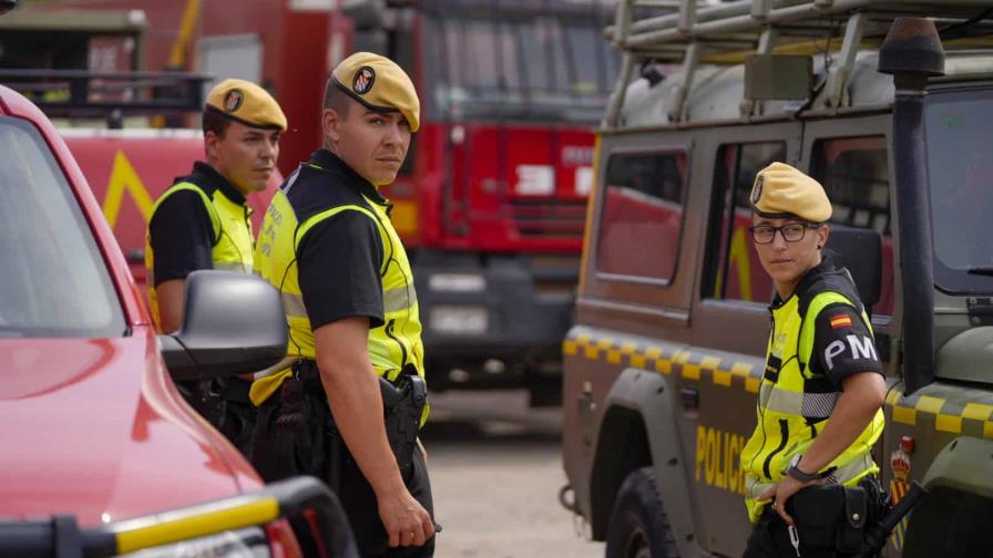
[[[158,198],[145,237],[149,299],[160,332],[175,331],[183,322],[191,272],[252,272],[254,238],[246,196],[265,189],[285,130],[279,104],[254,83],[224,80],[207,95],[206,161],[194,163],[193,170],[176,178]],[[246,454],[254,416],[248,388],[248,381],[238,379],[180,386],[187,401]]]

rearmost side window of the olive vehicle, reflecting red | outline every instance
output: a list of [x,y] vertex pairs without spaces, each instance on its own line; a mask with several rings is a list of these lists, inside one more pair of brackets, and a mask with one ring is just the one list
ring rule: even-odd
[[607,162],[596,268],[667,282],[676,269],[685,153],[615,154]]

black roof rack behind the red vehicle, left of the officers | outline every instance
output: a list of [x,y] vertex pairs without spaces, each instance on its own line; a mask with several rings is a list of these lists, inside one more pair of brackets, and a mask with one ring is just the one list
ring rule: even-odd
[[204,107],[204,84],[213,76],[186,72],[89,72],[0,70],[0,83],[31,99],[50,117],[121,118],[135,114],[182,114]]

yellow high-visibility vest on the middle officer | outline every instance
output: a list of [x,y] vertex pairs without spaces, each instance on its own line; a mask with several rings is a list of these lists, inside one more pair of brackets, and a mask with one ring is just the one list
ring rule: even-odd
[[[296,179],[297,175],[291,176],[289,184]],[[364,199],[366,206],[331,207],[298,223],[289,198],[284,190],[277,190],[259,232],[255,270],[279,289],[289,327],[288,356],[314,360],[314,331],[304,304],[296,260],[299,242],[316,225],[342,211],[358,211],[369,217],[376,224],[383,247],[379,269],[383,293],[383,324],[369,330],[369,360],[378,374],[390,380],[395,380],[407,364],[412,364],[423,375],[421,322],[407,252],[386,208],[365,197]],[[283,369],[268,375],[256,374],[252,384],[252,401],[260,405],[290,373]]]

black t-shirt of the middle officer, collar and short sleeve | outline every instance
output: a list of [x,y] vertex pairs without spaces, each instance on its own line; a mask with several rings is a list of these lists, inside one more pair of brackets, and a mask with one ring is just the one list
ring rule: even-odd
[[[284,187],[298,223],[331,207],[369,203],[387,206],[376,188],[326,149],[318,149]],[[369,318],[369,327],[383,324],[382,238],[366,214],[344,210],[313,228],[299,240],[297,270],[304,306],[315,330],[346,318]]]

